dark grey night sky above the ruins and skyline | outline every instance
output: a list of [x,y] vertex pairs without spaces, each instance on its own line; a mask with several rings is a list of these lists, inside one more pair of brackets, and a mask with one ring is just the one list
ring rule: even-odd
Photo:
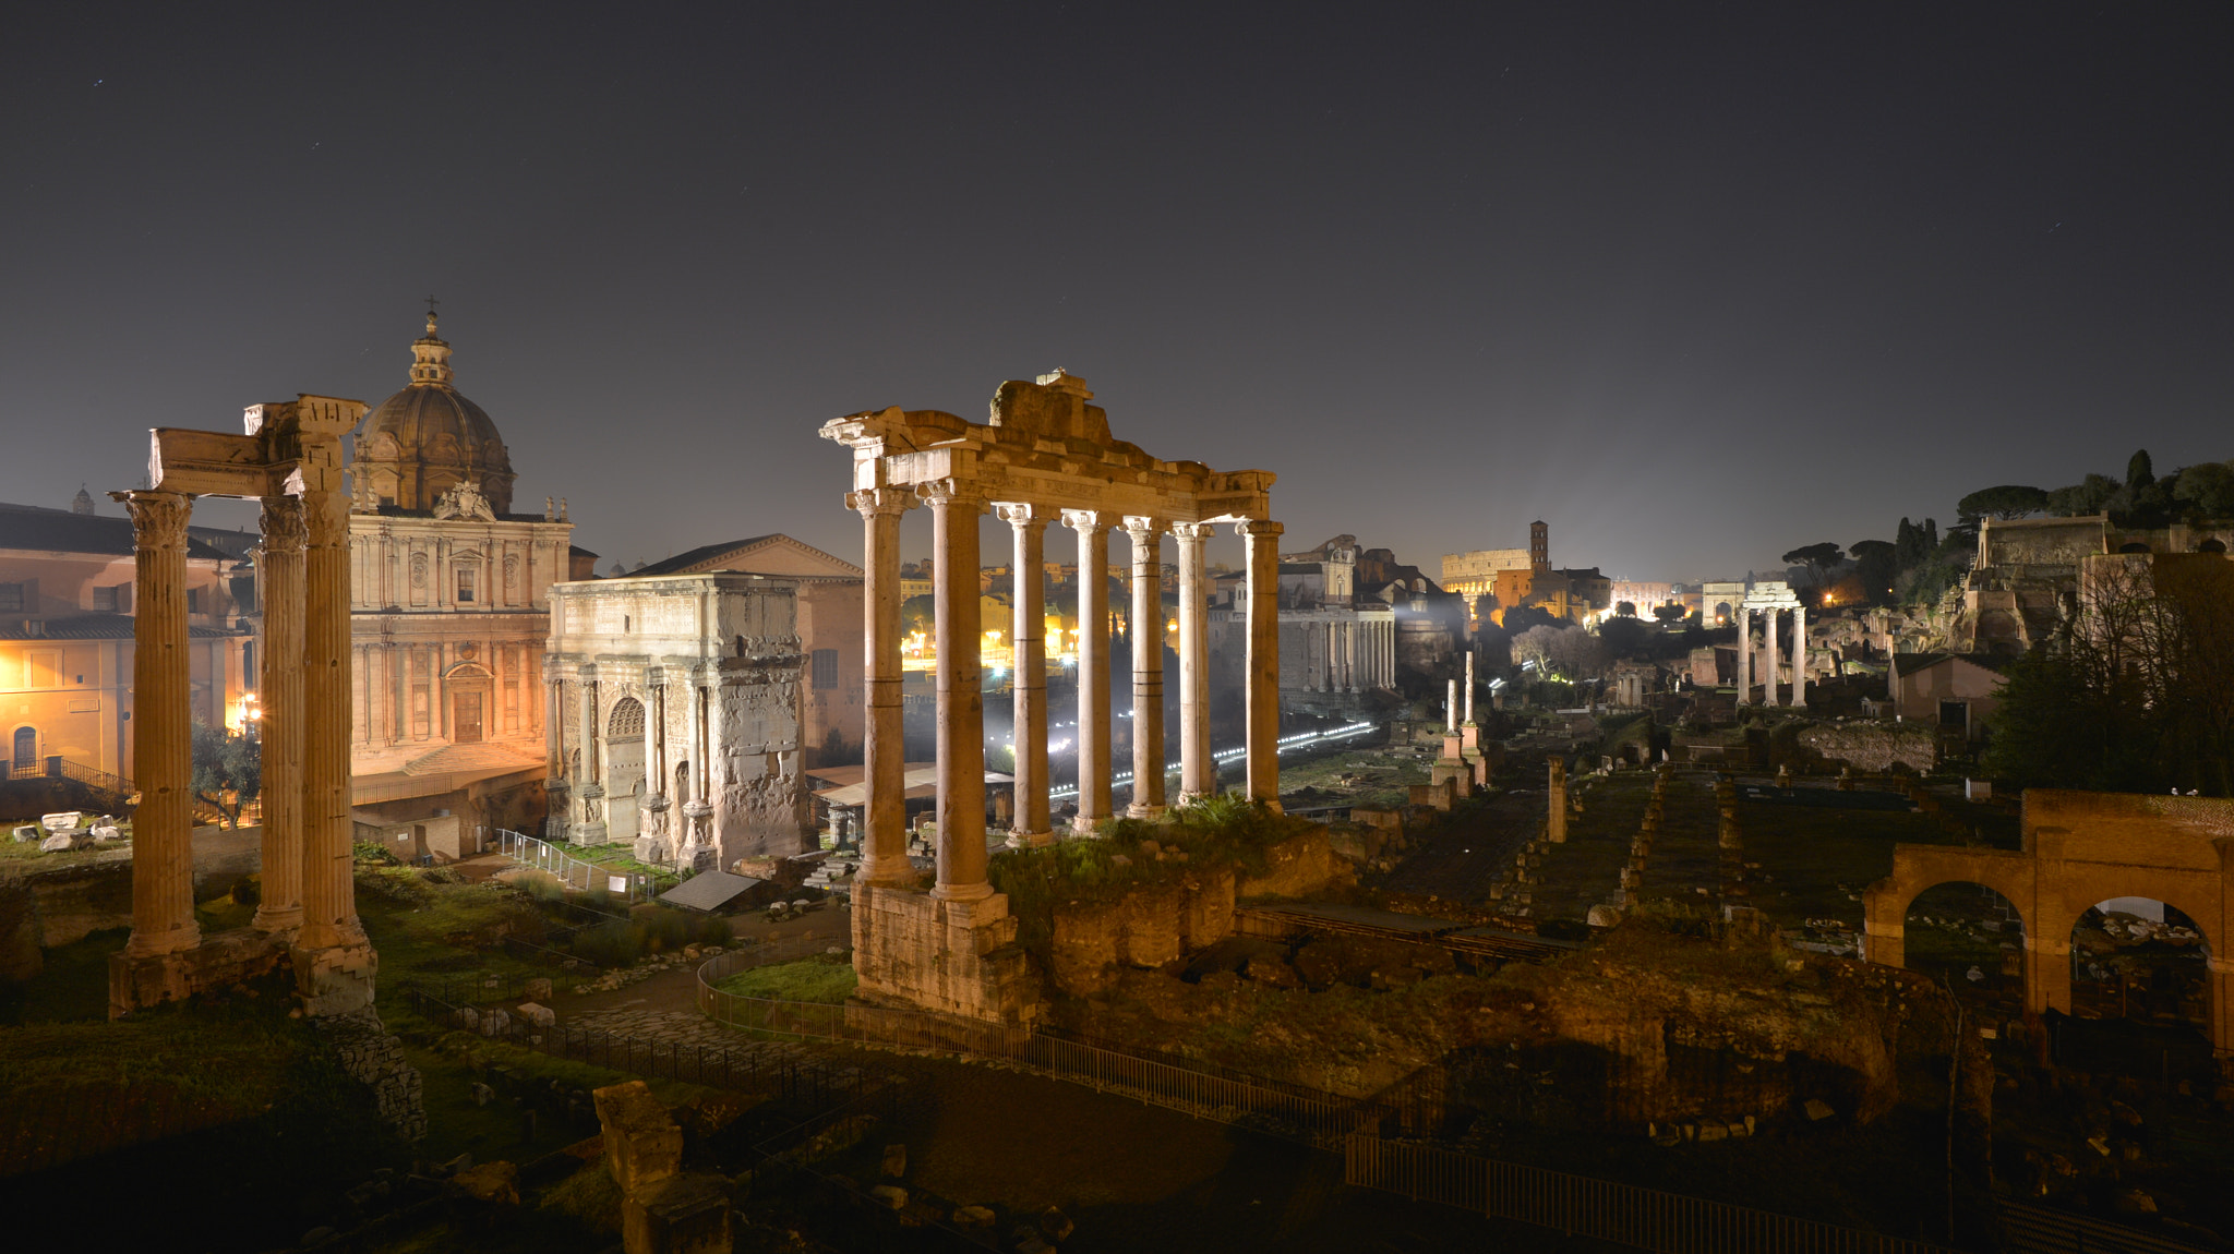
[[824,419],[1066,366],[1291,549],[1731,578],[2234,457],[2230,65],[2223,2],[18,7],[0,500],[378,404],[433,292],[601,567],[858,558]]

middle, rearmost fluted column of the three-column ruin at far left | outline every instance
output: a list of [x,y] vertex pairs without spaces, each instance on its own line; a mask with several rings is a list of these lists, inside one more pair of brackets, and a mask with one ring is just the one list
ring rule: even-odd
[[279,933],[302,926],[302,634],[304,634],[304,522],[302,500],[264,498],[264,640],[257,698],[264,707],[264,899],[257,928]]

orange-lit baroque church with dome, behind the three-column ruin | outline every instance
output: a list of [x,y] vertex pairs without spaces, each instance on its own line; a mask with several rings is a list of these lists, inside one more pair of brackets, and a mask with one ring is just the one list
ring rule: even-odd
[[572,549],[563,504],[512,509],[512,453],[454,386],[449,353],[429,312],[409,386],[355,435],[353,803],[391,823],[447,810],[525,830],[545,774],[550,587],[594,556]]

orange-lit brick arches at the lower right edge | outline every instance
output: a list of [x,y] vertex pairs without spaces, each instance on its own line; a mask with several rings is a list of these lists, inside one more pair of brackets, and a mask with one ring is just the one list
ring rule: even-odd
[[1993,888],[2024,922],[2024,1009],[2071,1011],[2071,930],[2113,897],[2149,897],[2194,919],[2209,982],[2209,1038],[2234,1058],[2234,801],[2031,790],[2024,848],[1894,846],[1892,875],[1863,895],[1870,962],[1906,966],[1908,906],[1937,884]]

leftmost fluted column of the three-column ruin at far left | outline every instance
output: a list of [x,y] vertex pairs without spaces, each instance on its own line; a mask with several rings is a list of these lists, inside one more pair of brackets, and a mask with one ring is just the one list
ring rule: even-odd
[[201,944],[194,922],[194,714],[185,656],[183,493],[114,493],[132,515],[132,939],[125,955]]

